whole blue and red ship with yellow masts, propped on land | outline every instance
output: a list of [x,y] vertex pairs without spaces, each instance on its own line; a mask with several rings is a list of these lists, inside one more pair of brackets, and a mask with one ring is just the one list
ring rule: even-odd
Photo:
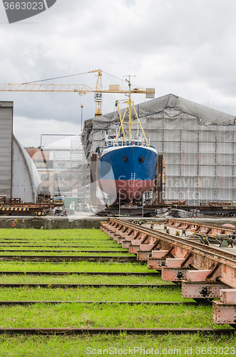
[[[130,80],[128,80],[129,96],[125,113],[128,109],[128,121],[120,116],[120,128],[114,136],[106,136],[106,147],[98,161],[98,186],[101,191],[113,197],[113,201],[131,203],[140,200],[143,193],[153,187],[155,165],[158,153],[150,146],[138,114],[130,97]],[[140,130],[136,137],[132,135],[131,106],[135,111],[136,122]],[[128,126],[128,136],[125,136],[125,126]]]

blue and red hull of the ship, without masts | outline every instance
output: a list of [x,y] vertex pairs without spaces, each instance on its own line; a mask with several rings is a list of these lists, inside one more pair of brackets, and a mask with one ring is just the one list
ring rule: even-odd
[[98,162],[98,185],[113,198],[138,200],[153,187],[158,154],[149,146],[108,146]]

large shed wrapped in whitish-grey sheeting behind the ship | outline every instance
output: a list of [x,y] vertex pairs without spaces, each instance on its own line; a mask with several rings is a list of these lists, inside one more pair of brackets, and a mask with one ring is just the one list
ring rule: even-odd
[[[173,94],[138,104],[135,110],[150,144],[164,157],[165,201],[235,201],[235,116]],[[116,111],[85,121],[82,140],[88,157],[104,146],[106,133],[116,133],[118,123]],[[133,131],[137,133],[135,124]]]

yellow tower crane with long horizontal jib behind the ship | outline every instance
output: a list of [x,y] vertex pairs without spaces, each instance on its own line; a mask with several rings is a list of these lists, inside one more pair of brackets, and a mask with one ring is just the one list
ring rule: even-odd
[[[118,84],[110,84],[108,89],[102,87],[102,71],[96,69],[89,73],[96,73],[97,83],[96,89],[93,89],[86,84],[39,84],[39,83],[23,83],[23,84],[0,84],[0,91],[42,91],[42,92],[71,92],[80,95],[86,93],[94,93],[94,100],[96,103],[95,116],[102,115],[102,94],[103,93],[120,93],[128,94],[128,89],[120,89]],[[154,88],[132,88],[130,93],[146,94],[146,98],[155,98]]]

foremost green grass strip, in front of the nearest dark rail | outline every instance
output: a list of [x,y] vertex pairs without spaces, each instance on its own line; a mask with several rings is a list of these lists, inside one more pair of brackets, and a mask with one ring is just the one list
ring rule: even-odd
[[[85,351],[93,351],[91,356],[101,356],[103,349],[113,348],[111,351],[125,351],[130,348],[130,351],[135,354],[127,354],[126,356],[148,356],[148,354],[140,354],[140,348],[153,351],[149,356],[201,356],[199,348],[215,348],[216,353],[205,354],[205,356],[227,356],[222,353],[217,353],[221,348],[235,348],[234,336],[202,336],[201,334],[187,336],[129,336],[125,333],[120,333],[117,336],[113,335],[98,335],[98,336],[0,336],[0,356],[1,357],[81,357],[89,356]],[[88,349],[87,349],[88,348]],[[190,349],[192,348],[192,350]],[[172,354],[171,350],[173,351]],[[180,353],[178,353],[180,350]],[[167,354],[167,352],[169,353]],[[174,353],[175,351],[175,353]],[[188,351],[191,354],[186,354]],[[204,351],[204,350],[203,350]],[[209,350],[210,351],[210,350]],[[231,350],[233,352],[233,349]],[[125,351],[125,353],[128,351]],[[99,353],[99,354],[98,354]],[[158,354],[157,354],[158,353]],[[109,356],[105,353],[102,356]],[[110,356],[119,356],[114,354]],[[125,356],[125,354],[120,354]],[[229,353],[229,356],[235,356]]]

